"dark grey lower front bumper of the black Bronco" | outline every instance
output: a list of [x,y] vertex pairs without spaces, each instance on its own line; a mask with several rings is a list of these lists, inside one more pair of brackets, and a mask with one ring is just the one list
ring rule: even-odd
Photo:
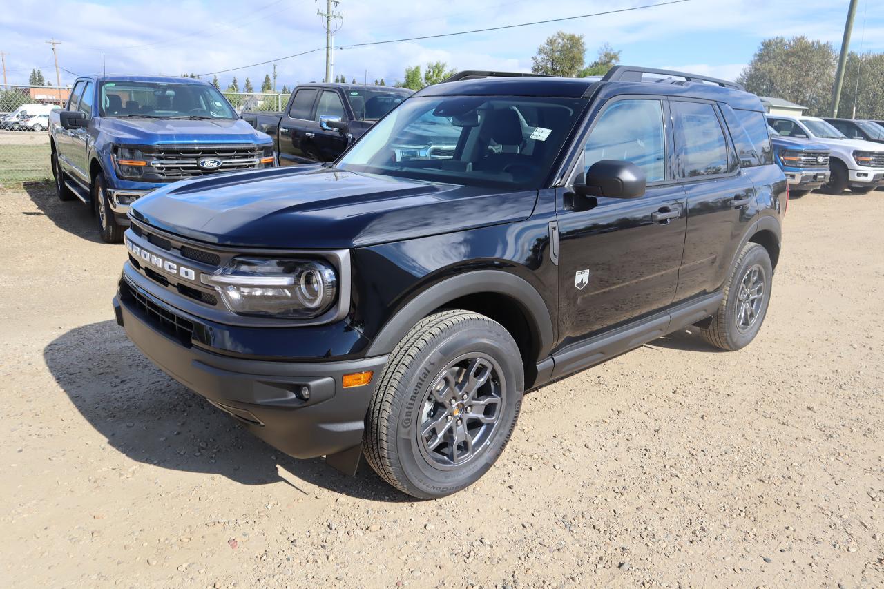
[[[355,452],[358,460],[365,415],[387,356],[278,362],[216,354],[186,338],[173,337],[168,329],[161,331],[158,326],[178,321],[180,311],[133,284],[129,287],[147,297],[150,310],[133,302],[133,291],[121,288],[113,300],[117,323],[173,379],[288,455],[314,458]],[[374,371],[369,385],[342,386],[345,374],[362,371]],[[306,400],[301,394],[305,386],[309,390]]]

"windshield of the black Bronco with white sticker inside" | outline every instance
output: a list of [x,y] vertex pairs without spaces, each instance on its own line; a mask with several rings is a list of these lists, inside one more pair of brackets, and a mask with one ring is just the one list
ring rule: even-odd
[[537,189],[586,105],[578,98],[409,98],[339,160],[351,172]]

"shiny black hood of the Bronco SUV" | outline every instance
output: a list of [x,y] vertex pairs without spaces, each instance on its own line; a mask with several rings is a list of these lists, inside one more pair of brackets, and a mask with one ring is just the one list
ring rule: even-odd
[[349,249],[522,220],[536,202],[536,190],[499,194],[310,165],[176,182],[129,214],[218,245]]

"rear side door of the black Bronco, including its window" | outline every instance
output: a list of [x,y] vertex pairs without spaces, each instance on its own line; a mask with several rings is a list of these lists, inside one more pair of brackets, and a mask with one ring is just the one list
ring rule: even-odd
[[743,172],[718,105],[670,101],[675,171],[688,199],[688,234],[675,301],[718,290],[755,222],[755,186]]

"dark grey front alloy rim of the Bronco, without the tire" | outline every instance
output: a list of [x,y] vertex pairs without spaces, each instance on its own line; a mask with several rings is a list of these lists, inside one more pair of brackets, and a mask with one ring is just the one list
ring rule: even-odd
[[505,395],[506,383],[491,357],[473,353],[449,363],[423,402],[417,424],[423,457],[451,470],[482,454],[499,424]]

